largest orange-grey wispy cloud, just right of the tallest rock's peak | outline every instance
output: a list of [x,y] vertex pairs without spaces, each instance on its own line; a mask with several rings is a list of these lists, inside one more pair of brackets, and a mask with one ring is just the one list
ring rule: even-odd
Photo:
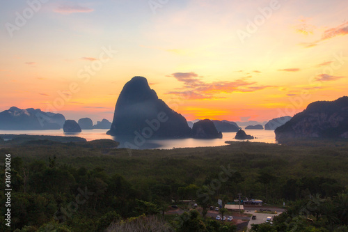
[[271,88],[275,86],[258,86],[256,82],[248,82],[245,79],[236,79],[234,81],[219,81],[206,83],[203,77],[195,72],[175,72],[168,77],[175,77],[179,82],[184,83],[183,91],[171,91],[167,94],[186,95],[187,98],[194,99],[216,99],[223,98],[216,96],[219,93],[232,92],[254,92],[264,88]]

